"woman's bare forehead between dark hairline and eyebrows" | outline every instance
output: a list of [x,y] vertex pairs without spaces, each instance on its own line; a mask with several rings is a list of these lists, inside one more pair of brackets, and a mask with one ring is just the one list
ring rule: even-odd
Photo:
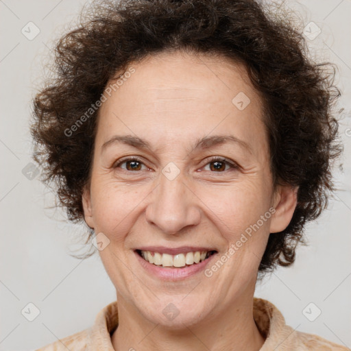
[[133,73],[106,86],[110,96],[105,92],[99,110],[100,147],[113,134],[134,134],[163,149],[183,139],[192,145],[211,133],[234,133],[262,149],[261,99],[242,64],[176,51],[132,62],[127,71]]

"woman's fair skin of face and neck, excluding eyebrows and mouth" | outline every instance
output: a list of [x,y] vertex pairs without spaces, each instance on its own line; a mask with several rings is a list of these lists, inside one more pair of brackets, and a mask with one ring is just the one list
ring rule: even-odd
[[[84,217],[110,243],[100,256],[117,290],[115,350],[259,350],[265,341],[252,315],[258,266],[270,232],[284,230],[296,206],[290,186],[272,186],[262,101],[241,64],[226,58],[163,52],[135,69],[99,110]],[[250,98],[243,110],[232,99]],[[106,95],[107,96],[107,95]],[[112,143],[114,135],[148,141],[149,149]],[[226,143],[193,149],[198,138],[232,135]],[[138,156],[141,164],[119,160]],[[219,170],[210,156],[227,158]],[[117,162],[118,161],[118,162]],[[180,173],[169,180],[162,169]],[[116,166],[114,168],[114,166]],[[134,170],[136,169],[136,170]],[[218,270],[164,282],[146,274],[134,250],[144,245],[215,247],[223,256],[269,208],[276,212]],[[179,315],[162,310],[172,303]]]

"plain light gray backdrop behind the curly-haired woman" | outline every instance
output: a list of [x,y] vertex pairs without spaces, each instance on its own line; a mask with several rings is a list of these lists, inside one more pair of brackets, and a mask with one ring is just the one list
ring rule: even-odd
[[[84,3],[0,0],[0,350],[33,350],[79,332],[116,299],[97,254],[84,261],[69,256],[80,247],[82,228],[48,208],[53,194],[38,176],[29,180],[23,174],[32,162],[30,100],[40,88],[53,40],[69,29]],[[345,152],[343,170],[335,169],[340,190],[306,230],[310,245],[300,247],[293,267],[267,276],[255,295],[276,304],[293,328],[351,348],[351,1],[286,0],[284,5],[295,9],[304,25],[313,21],[321,28],[308,40],[312,55],[339,67]],[[40,29],[32,40],[21,32],[29,21]],[[29,302],[40,310],[33,322],[21,314]],[[302,313],[311,302],[308,316],[322,311],[313,322]]]

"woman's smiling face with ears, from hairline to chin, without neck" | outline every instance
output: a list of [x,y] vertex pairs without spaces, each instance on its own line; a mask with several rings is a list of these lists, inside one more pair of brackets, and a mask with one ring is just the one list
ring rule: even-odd
[[[86,223],[130,313],[173,327],[225,317],[252,300],[269,232],[295,208],[272,188],[261,100],[225,58],[162,53],[130,72],[99,110]],[[197,251],[216,253],[191,265]],[[172,262],[189,265],[160,265]]]

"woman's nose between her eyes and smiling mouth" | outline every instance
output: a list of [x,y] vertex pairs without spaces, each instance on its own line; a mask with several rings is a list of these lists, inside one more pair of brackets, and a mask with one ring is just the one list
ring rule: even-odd
[[199,223],[200,200],[184,182],[182,173],[173,180],[161,174],[160,183],[149,196],[151,200],[145,210],[145,217],[161,232],[177,234],[183,228]]

